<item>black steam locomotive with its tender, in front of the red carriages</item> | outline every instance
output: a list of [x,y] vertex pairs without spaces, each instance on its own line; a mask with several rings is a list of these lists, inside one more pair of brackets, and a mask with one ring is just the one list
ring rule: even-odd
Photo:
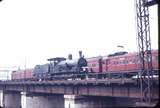
[[79,59],[73,60],[69,54],[68,59],[64,57],[56,57],[48,59],[50,63],[44,65],[36,65],[34,68],[34,76],[37,79],[62,79],[74,78],[87,72],[87,60],[79,51]]

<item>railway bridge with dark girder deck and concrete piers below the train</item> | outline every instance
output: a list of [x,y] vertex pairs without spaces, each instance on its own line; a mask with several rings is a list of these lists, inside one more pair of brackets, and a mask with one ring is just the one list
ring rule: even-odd
[[[155,79],[152,85],[153,103],[159,98],[158,85],[158,79]],[[21,108],[24,95],[29,108],[53,108],[53,105],[54,108],[74,107],[71,103],[64,103],[67,100],[83,103],[77,108],[138,106],[141,98],[139,81],[133,79],[2,81],[0,90],[5,108]]]

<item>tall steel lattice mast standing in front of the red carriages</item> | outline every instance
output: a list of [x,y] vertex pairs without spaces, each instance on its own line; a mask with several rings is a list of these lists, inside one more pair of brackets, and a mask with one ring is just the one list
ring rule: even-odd
[[136,0],[137,37],[141,62],[140,90],[141,102],[151,103],[152,98],[152,54],[149,26],[149,10],[144,4],[148,0]]

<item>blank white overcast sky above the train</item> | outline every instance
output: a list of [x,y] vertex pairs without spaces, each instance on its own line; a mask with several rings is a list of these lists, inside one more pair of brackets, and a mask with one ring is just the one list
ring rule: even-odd
[[[56,56],[137,51],[135,0],[3,0],[0,67],[27,68]],[[157,6],[150,7],[152,48],[158,48]]]

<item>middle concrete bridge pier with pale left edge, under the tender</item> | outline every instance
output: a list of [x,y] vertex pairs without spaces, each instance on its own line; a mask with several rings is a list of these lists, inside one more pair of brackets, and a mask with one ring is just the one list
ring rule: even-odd
[[22,108],[64,108],[63,95],[22,93]]

